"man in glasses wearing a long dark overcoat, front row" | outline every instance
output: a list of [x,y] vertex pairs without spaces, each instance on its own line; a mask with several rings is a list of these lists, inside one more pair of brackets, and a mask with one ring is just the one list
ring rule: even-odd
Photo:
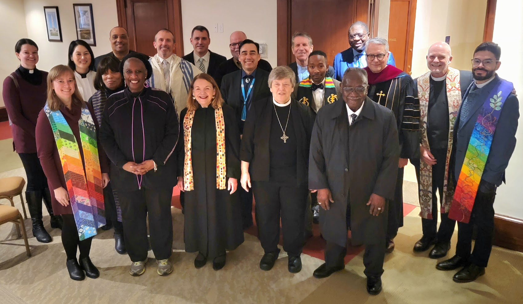
[[309,189],[317,190],[320,228],[327,241],[325,263],[313,276],[345,268],[347,229],[353,245],[365,245],[367,292],[380,293],[389,204],[394,198],[400,157],[394,113],[367,97],[367,73],[348,68],[345,102],[323,106],[316,115],[309,157]]

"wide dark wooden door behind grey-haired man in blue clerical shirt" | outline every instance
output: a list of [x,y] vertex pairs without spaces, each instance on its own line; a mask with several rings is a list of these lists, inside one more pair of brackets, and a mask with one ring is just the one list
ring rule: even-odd
[[368,23],[369,0],[277,0],[278,65],[293,62],[291,37],[307,32],[314,50],[327,54],[328,63],[349,48],[348,29],[355,21]]

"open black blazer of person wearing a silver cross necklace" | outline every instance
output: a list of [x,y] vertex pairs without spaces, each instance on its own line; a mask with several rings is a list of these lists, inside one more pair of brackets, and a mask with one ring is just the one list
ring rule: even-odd
[[[253,103],[247,114],[240,146],[240,159],[250,162],[252,181],[269,180],[269,134],[272,124],[272,96]],[[309,147],[314,119],[309,107],[292,100],[292,123],[297,136],[296,176],[298,185],[309,180]]]

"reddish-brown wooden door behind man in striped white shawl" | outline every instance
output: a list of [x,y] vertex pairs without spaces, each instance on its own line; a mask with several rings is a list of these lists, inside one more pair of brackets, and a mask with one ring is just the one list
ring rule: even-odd
[[118,25],[129,32],[129,48],[149,56],[156,54],[154,35],[161,29],[174,33],[174,53],[183,56],[181,0],[117,0]]

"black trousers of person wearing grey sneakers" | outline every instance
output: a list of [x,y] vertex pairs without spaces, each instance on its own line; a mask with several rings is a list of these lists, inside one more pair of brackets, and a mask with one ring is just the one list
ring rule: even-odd
[[165,260],[173,252],[173,218],[170,201],[173,189],[145,189],[118,191],[122,208],[123,238],[133,262],[147,258],[146,218],[149,214],[151,248],[156,260]]

